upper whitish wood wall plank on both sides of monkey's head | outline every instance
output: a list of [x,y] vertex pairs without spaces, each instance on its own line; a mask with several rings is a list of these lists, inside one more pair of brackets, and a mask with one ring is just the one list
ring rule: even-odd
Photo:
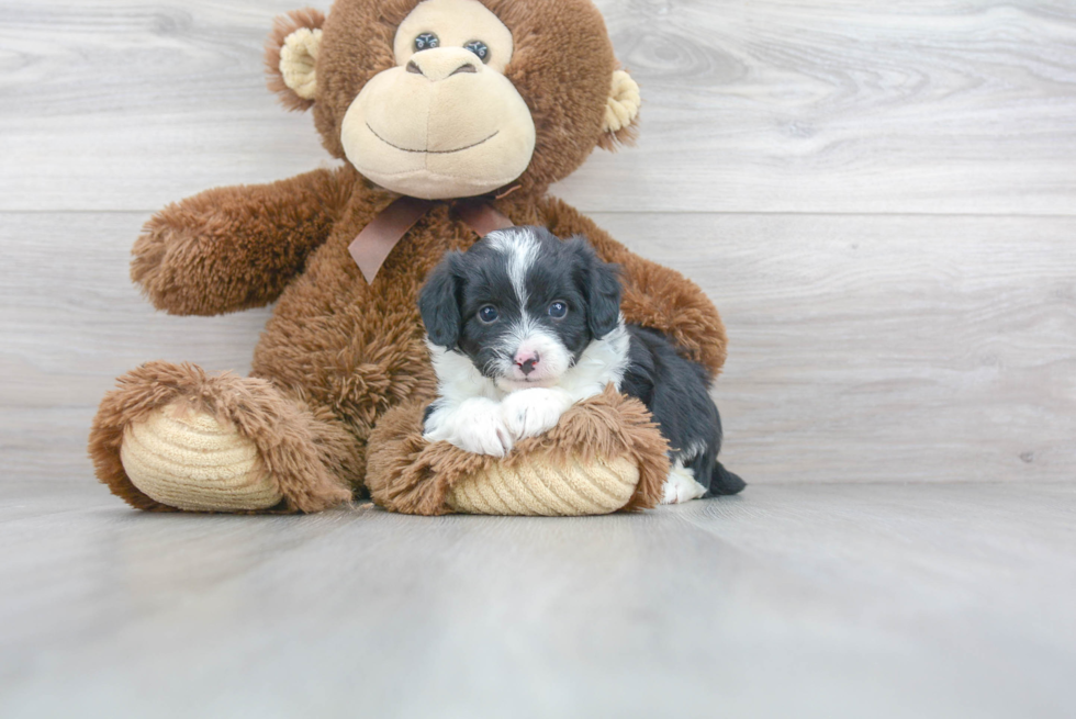
[[[598,4],[643,126],[558,189],[584,211],[1074,212],[1069,2]],[[0,210],[152,211],[326,162],[264,87],[294,5],[0,3]]]

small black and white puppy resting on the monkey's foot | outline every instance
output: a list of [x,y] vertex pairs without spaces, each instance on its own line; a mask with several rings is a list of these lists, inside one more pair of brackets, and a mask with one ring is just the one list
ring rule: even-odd
[[585,238],[490,233],[445,257],[418,306],[439,387],[427,440],[503,457],[613,383],[646,404],[672,447],[665,504],[743,488],[717,461],[721,420],[705,370],[661,333],[624,323],[617,268]]

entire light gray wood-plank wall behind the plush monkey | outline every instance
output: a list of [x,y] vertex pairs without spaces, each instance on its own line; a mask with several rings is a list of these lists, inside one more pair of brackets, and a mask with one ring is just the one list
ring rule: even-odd
[[[90,481],[96,404],[145,360],[247,369],[267,311],[155,314],[127,254],[170,201],[328,164],[262,82],[302,4],[0,2],[4,478]],[[642,135],[556,192],[721,310],[727,463],[1072,481],[1076,5],[599,4]]]

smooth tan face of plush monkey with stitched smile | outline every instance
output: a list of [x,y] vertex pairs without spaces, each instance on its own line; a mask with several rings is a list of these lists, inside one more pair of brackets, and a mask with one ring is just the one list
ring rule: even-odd
[[527,169],[535,123],[503,75],[512,33],[478,0],[427,0],[401,23],[396,66],[374,76],[340,127],[378,184],[442,200],[491,192]]

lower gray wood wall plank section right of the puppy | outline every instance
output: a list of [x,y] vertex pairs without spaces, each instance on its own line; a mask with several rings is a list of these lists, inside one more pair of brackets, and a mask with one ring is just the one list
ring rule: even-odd
[[1076,479],[1076,222],[598,215],[702,285],[748,481]]

